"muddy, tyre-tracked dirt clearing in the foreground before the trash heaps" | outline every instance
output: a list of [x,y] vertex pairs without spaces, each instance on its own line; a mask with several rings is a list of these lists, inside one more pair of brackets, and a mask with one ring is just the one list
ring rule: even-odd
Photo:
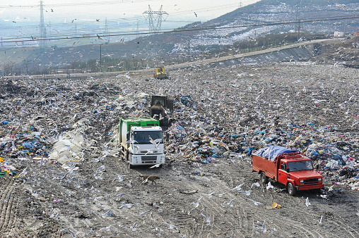
[[[106,170],[102,180],[96,181],[93,174],[101,165]],[[251,173],[245,161],[228,159],[217,166],[207,165],[200,176],[179,158],[165,168],[134,170],[115,158],[105,158],[79,165],[72,175],[85,180],[80,189],[75,182],[51,179],[58,177],[60,165],[36,167],[29,164],[28,173],[40,178],[36,180],[42,188],[38,195],[32,194],[35,187],[22,189],[14,180],[1,184],[3,237],[72,237],[71,232],[77,237],[359,236],[358,191],[335,191],[323,199],[309,192],[292,197],[278,184],[274,189],[262,184],[251,188],[259,175]],[[140,174],[159,175],[160,180],[141,184]],[[124,175],[124,181],[114,180],[117,175]],[[231,190],[239,184],[243,184],[240,192]],[[250,190],[248,196],[241,193]],[[305,205],[307,197],[310,206]],[[273,202],[282,208],[272,208]],[[132,205],[126,208],[124,204]],[[50,218],[58,213],[56,220]]]

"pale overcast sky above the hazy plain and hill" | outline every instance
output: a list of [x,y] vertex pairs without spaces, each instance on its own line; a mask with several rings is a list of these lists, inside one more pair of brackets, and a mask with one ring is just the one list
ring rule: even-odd
[[[253,4],[257,0],[218,1],[218,0],[44,0],[45,23],[71,22],[71,20],[143,18],[142,13],[163,11],[169,15],[167,20],[183,21],[183,25],[201,20],[206,21],[234,11],[240,6]],[[242,4],[242,5],[241,5]],[[194,14],[196,13],[196,14]],[[40,0],[1,0],[0,24],[6,21],[40,21]]]

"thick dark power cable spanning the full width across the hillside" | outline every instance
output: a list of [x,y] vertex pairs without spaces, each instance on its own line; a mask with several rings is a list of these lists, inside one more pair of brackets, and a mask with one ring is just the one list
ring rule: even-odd
[[[336,16],[335,18],[308,18],[300,20],[300,23],[314,23],[314,22],[322,22],[322,21],[331,21],[331,20],[348,20],[348,19],[358,19],[359,15],[352,15],[352,16]],[[179,29],[179,30],[162,30],[158,33],[173,33],[173,32],[195,32],[199,30],[220,30],[220,29],[233,29],[233,28],[240,28],[240,27],[266,27],[271,25],[287,25],[287,24],[296,24],[298,21],[281,21],[281,22],[266,22],[266,23],[258,23],[258,24],[249,24],[249,25],[233,25],[233,26],[207,26],[207,27],[193,27],[187,29]],[[129,36],[129,35],[151,35],[153,32],[136,32],[136,31],[127,31],[125,33],[118,33],[118,34],[109,34],[108,37],[119,37],[119,36]],[[100,37],[104,37],[101,33],[98,33]],[[47,37],[45,40],[57,40],[57,39],[85,39],[85,38],[97,38],[98,35],[89,35],[89,36],[66,36],[66,37]],[[5,40],[1,41],[1,43],[10,43],[10,42],[33,42],[36,40],[42,39],[17,39],[17,40]]]

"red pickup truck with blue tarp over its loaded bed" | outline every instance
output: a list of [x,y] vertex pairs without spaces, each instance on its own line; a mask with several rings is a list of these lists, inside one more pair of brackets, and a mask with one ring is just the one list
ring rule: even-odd
[[300,151],[286,149],[282,146],[269,146],[252,154],[252,171],[261,175],[261,182],[267,183],[269,178],[286,185],[292,196],[298,190],[319,191],[323,177],[313,168],[310,158]]

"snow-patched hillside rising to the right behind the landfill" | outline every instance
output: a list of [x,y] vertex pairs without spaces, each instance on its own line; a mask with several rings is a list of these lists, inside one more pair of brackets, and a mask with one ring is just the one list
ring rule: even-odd
[[[243,44],[249,42],[251,47],[260,48],[264,46],[264,43],[260,43],[264,40],[261,37],[284,33],[288,35],[290,32],[293,37],[298,32],[298,25],[300,35],[305,32],[332,35],[334,31],[353,34],[359,29],[358,12],[359,3],[355,0],[335,2],[302,0],[299,5],[298,0],[262,0],[256,4],[237,8],[205,23],[191,23],[177,28],[174,32],[143,35],[131,41],[112,43],[110,37],[98,35],[87,39],[88,45],[81,46],[78,44],[83,44],[81,42],[83,39],[64,39],[63,41],[67,41],[68,44],[66,47],[57,46],[55,41],[48,42],[48,47],[43,49],[0,47],[1,51],[7,51],[5,54],[0,54],[0,61],[37,64],[37,67],[42,68],[45,65],[64,67],[74,62],[79,65],[90,60],[96,63],[99,58],[102,60],[122,58],[136,61],[141,65],[139,68],[146,68],[148,65],[151,66],[153,61],[166,61],[166,63],[184,61],[188,60],[189,56],[208,56],[215,50],[216,54],[220,54],[218,52],[238,47],[236,44],[241,42]],[[357,18],[353,18],[355,16]],[[319,21],[334,18],[348,19]],[[301,23],[298,24],[298,21]],[[272,44],[288,44],[286,35],[283,35],[281,42]],[[121,62],[117,61],[117,64],[119,63]]]

